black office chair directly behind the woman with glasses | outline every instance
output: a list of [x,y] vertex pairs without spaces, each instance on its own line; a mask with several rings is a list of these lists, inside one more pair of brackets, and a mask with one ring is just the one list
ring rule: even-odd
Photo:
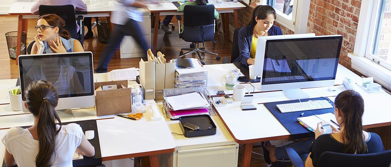
[[[86,14],[87,12],[78,12],[79,14]],[[44,14],[56,14],[60,16],[65,21],[64,29],[71,34],[71,38],[77,39],[80,41],[81,46],[84,43],[84,25],[83,25],[83,16],[77,16],[75,14],[75,8],[73,5],[39,5],[39,16]],[[77,23],[80,26],[80,30],[77,31]]]

